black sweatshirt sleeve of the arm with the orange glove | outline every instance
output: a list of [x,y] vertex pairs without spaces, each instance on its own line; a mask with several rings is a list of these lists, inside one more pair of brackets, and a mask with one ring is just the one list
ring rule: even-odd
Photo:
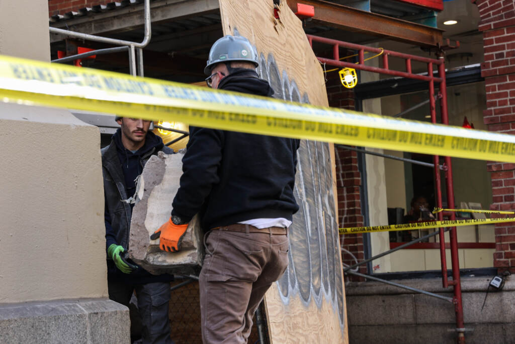
[[172,215],[190,221],[202,207],[213,184],[218,183],[224,132],[190,127],[190,140],[182,158],[180,187],[172,203]]

